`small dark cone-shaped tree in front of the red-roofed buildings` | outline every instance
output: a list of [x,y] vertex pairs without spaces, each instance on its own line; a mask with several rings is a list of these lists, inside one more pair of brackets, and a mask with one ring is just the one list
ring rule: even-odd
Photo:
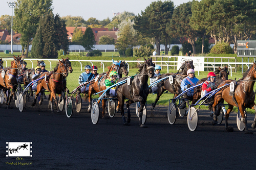
[[96,41],[94,39],[93,30],[90,27],[88,27],[83,34],[82,46],[86,50],[92,50],[94,44],[96,44]]

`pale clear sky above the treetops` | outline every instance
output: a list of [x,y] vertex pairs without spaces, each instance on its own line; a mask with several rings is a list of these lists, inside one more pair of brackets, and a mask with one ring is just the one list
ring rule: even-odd
[[[156,0],[155,0],[156,1]],[[152,0],[53,0],[53,13],[62,16],[82,16],[84,20],[94,17],[98,20],[113,18],[113,13],[118,12],[133,12],[135,15],[141,14]],[[9,2],[9,1],[8,1]],[[11,1],[16,2],[16,1]],[[164,2],[164,1],[162,1]],[[177,7],[182,3],[187,3],[189,0],[173,0]],[[0,0],[2,6],[0,16],[12,15],[12,9],[8,6],[7,1]],[[6,7],[4,7],[6,6]],[[14,12],[13,12],[14,15]]]

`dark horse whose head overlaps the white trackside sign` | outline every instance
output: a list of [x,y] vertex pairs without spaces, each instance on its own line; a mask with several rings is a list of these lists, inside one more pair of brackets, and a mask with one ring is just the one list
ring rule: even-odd
[[187,76],[187,70],[189,68],[192,68],[192,69],[195,68],[195,66],[193,65],[193,60],[185,61],[184,63],[182,63],[182,65],[180,67],[180,69],[182,71],[181,72],[178,71],[177,74],[162,74],[160,76],[159,79],[164,78],[164,77],[169,76],[169,75],[173,75],[174,83],[170,84],[169,80],[166,79],[166,80],[163,80],[163,81],[161,81],[157,84],[158,91],[157,91],[157,97],[156,97],[155,103],[152,103],[153,109],[156,107],[156,104],[157,104],[158,100],[160,99],[160,96],[163,94],[164,91],[167,90],[170,93],[173,93],[174,98],[176,98],[182,92],[181,88],[180,88],[180,84],[181,84],[181,81]]

